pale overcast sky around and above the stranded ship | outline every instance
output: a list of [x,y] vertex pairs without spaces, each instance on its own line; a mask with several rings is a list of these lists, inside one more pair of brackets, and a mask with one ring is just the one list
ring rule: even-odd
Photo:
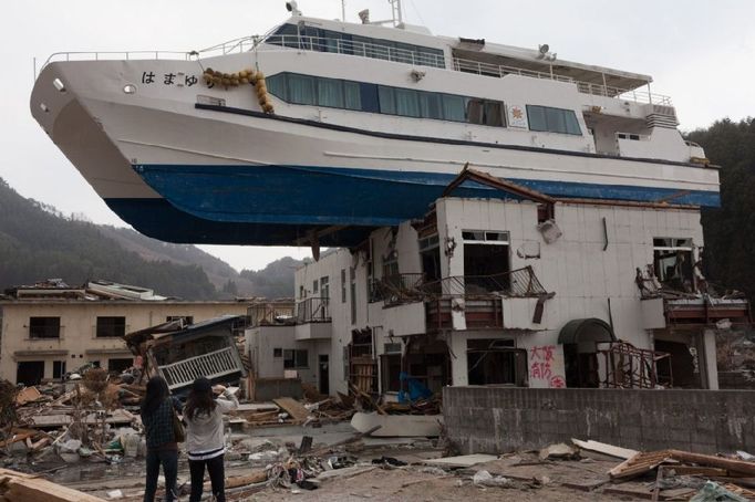
[[[341,17],[340,0],[300,0],[306,15]],[[347,0],[347,20],[386,0]],[[404,20],[433,33],[537,48],[560,59],[653,76],[671,96],[683,130],[755,115],[753,0],[404,0]],[[107,209],[29,112],[33,57],[59,51],[189,51],[265,33],[287,19],[283,0],[23,0],[0,21],[0,177],[24,197],[125,226]],[[306,248],[203,245],[236,269],[260,269]]]

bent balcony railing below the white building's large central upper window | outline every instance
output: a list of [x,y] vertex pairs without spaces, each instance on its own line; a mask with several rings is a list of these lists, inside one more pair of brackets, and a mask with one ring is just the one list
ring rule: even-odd
[[430,296],[500,296],[538,297],[548,292],[531,266],[495,275],[454,275],[422,285]]

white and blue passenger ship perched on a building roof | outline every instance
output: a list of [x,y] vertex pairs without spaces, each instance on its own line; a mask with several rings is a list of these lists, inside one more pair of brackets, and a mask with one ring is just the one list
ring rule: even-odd
[[[170,242],[358,245],[464,166],[556,199],[720,206],[652,77],[303,15],[201,51],[55,53],[31,112],[107,206]],[[516,198],[466,181],[462,197]]]

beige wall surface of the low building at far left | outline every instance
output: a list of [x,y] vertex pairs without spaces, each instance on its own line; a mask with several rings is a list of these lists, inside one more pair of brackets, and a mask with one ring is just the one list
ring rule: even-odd
[[[99,316],[126,318],[126,333],[164,323],[168,316],[194,316],[199,322],[224,314],[246,315],[247,304],[237,302],[39,302],[2,303],[0,378],[15,383],[17,365],[22,360],[43,360],[44,378],[52,378],[53,363],[65,362],[66,370],[99,360],[104,368],[110,359],[131,358],[121,338],[95,336]],[[60,317],[60,338],[32,339],[29,318]]]

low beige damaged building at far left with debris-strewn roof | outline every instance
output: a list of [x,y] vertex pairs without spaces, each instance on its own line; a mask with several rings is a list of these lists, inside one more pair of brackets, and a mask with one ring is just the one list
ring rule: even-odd
[[70,286],[61,280],[9,289],[0,295],[0,378],[37,385],[91,364],[118,373],[134,363],[123,336],[174,320],[187,324],[290,301],[195,302],[107,281]]

